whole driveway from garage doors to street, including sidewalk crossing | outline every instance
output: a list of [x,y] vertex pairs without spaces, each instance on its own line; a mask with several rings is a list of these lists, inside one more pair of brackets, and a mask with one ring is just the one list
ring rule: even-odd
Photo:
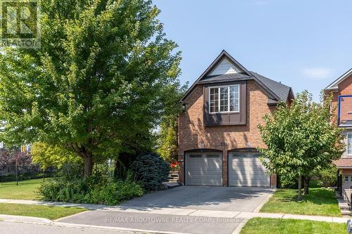
[[232,234],[268,200],[270,188],[182,186],[64,219],[142,233]]

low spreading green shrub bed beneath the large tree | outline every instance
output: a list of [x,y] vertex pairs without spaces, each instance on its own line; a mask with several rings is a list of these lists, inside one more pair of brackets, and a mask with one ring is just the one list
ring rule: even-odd
[[143,195],[139,183],[131,180],[113,181],[109,178],[89,176],[64,181],[48,181],[39,187],[39,194],[51,202],[73,202],[93,204],[119,204],[132,197]]

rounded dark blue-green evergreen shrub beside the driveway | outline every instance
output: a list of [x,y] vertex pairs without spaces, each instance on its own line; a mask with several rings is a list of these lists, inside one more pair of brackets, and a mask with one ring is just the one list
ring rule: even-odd
[[163,181],[168,180],[170,165],[159,155],[148,153],[139,155],[131,164],[136,178],[141,181],[144,190],[158,190]]

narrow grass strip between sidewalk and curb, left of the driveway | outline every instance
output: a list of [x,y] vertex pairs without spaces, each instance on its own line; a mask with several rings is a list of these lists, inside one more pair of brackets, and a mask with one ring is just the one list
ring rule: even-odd
[[58,219],[84,212],[87,209],[77,207],[49,207],[39,204],[10,204],[0,203],[0,214],[33,216],[46,219]]

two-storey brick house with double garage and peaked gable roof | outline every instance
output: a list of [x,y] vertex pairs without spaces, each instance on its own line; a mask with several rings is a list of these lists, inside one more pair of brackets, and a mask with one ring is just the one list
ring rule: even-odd
[[226,51],[182,98],[179,118],[180,182],[197,186],[276,187],[259,160],[258,124],[291,87],[249,72]]

